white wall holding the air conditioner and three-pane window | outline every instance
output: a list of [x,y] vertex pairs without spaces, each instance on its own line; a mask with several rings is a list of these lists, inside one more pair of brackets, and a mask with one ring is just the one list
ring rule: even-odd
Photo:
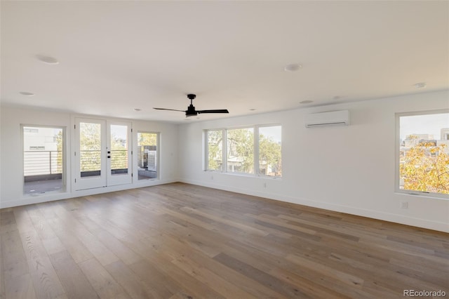
[[[395,193],[395,113],[447,108],[441,91],[186,124],[180,180],[449,232],[449,200]],[[340,109],[350,126],[304,128],[304,114]],[[253,124],[282,124],[283,178],[203,171],[204,129]]]

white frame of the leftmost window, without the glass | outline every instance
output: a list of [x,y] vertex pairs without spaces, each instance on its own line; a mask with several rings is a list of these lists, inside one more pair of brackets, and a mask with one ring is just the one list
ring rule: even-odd
[[[62,179],[62,188],[60,190],[48,190],[45,192],[39,192],[39,193],[25,193],[25,128],[26,127],[32,127],[32,128],[56,128],[62,130],[62,168],[61,168],[61,179]],[[38,132],[27,132],[27,133],[39,133]],[[67,170],[68,170],[68,163],[67,160],[67,126],[53,126],[53,125],[41,125],[41,124],[20,124],[20,151],[22,153],[22,159],[20,161],[20,166],[22,167],[22,197],[39,197],[39,196],[46,196],[48,194],[61,194],[67,192]]]

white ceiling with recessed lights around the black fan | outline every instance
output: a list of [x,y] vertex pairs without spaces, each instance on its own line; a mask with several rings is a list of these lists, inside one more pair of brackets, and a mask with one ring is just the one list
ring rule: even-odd
[[1,1],[4,105],[229,109],[199,121],[446,89],[448,57],[448,1]]

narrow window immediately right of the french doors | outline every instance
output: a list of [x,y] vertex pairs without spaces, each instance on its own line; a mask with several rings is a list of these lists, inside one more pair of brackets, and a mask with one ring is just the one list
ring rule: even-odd
[[138,179],[158,178],[159,133],[138,132]]

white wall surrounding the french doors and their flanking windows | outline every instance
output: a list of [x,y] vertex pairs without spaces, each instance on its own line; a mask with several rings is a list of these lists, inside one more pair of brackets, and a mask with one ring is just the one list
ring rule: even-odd
[[[150,131],[161,133],[160,150],[160,180],[137,180],[134,177],[133,184],[99,188],[95,190],[72,191],[72,165],[67,154],[67,191],[63,193],[47,193],[36,197],[24,196],[22,193],[22,140],[20,124],[65,126],[67,127],[67,149],[73,142],[73,117],[71,114],[61,112],[48,112],[38,109],[18,109],[13,107],[1,107],[0,111],[1,137],[0,137],[0,208],[20,206],[23,204],[35,204],[56,199],[79,197],[88,194],[111,192],[135,187],[159,185],[166,182],[176,182],[177,173],[177,131],[176,124],[167,124],[153,121],[131,121],[133,126],[133,150],[137,152],[137,141],[134,138],[138,131]],[[76,115],[76,117],[89,117]],[[104,117],[91,117],[105,119]],[[123,119],[122,119],[123,120]],[[70,150],[69,152],[73,152]],[[136,166],[137,162],[133,162]]]

